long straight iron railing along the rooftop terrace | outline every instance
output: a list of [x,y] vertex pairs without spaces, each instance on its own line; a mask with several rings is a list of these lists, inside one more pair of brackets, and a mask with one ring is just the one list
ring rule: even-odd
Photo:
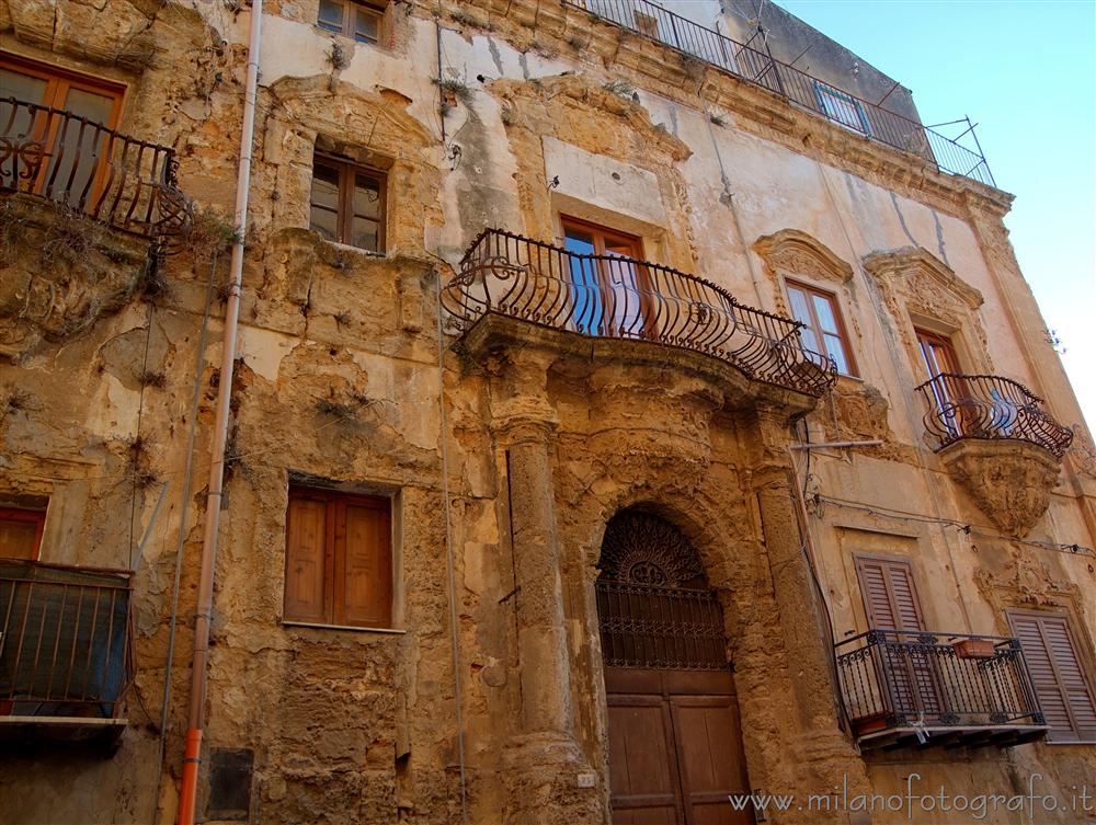
[[751,45],[754,38],[739,43],[649,0],[563,0],[563,4],[763,87],[871,140],[916,154],[941,172],[996,185],[969,121],[959,139],[967,138],[971,147],[884,108],[882,102],[861,100],[779,61],[764,44]]

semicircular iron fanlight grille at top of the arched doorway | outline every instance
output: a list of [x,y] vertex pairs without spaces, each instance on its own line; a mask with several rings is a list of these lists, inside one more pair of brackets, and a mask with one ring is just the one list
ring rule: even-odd
[[632,584],[681,587],[704,573],[693,545],[651,513],[626,509],[605,526],[602,575]]

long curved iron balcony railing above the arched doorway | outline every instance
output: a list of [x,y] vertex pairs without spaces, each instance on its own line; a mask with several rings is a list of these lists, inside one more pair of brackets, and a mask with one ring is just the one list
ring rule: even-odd
[[501,229],[481,232],[442,290],[461,332],[490,312],[592,337],[648,341],[719,358],[747,378],[815,398],[836,381],[802,324],[743,306],[677,270],[579,254]]

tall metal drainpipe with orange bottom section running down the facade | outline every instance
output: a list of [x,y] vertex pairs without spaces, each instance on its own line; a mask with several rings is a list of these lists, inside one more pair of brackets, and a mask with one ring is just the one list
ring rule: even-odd
[[252,0],[251,34],[248,38],[248,84],[243,96],[243,129],[240,136],[240,165],[236,179],[237,238],[229,268],[228,303],[225,308],[224,356],[217,388],[217,419],[214,424],[213,463],[206,494],[205,536],[202,542],[202,574],[194,615],[194,656],[191,665],[191,711],[183,756],[183,780],[179,792],[179,825],[194,825],[198,768],[202,764],[202,734],[205,729],[206,669],[209,663],[209,623],[213,612],[213,577],[217,562],[217,537],[225,481],[225,445],[228,440],[229,401],[236,366],[236,337],[240,320],[240,286],[243,280],[243,238],[248,228],[248,194],[251,184],[251,145],[255,131],[255,96],[259,89],[259,49],[262,34],[263,0]]

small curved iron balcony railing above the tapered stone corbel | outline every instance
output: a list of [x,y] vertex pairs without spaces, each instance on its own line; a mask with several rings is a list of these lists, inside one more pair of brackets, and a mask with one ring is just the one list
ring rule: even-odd
[[1012,438],[1060,459],[1073,442],[1073,431],[1042,409],[1042,399],[1009,378],[943,373],[917,389],[928,401],[925,427],[938,450],[962,438]]

